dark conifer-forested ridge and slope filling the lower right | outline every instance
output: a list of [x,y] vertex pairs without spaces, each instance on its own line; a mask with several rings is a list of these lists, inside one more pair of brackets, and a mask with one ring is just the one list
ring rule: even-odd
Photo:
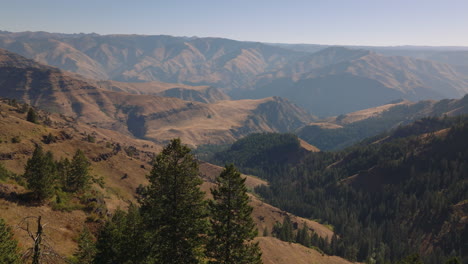
[[466,133],[466,116],[425,118],[335,153],[303,153],[293,135],[251,135],[213,160],[268,179],[256,188],[266,201],[332,225],[337,236],[321,245],[328,254],[368,263],[418,254],[436,264],[456,256],[465,263]]

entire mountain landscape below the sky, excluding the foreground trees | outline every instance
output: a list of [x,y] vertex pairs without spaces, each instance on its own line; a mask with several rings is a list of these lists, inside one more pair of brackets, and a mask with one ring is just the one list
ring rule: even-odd
[[[314,249],[257,238],[265,263],[348,263],[323,252],[394,261],[411,250],[440,263],[438,253],[451,256],[466,240],[457,235],[466,233],[464,56],[454,48],[0,31],[0,96],[9,98],[0,99],[2,218],[60,219],[55,227],[65,228],[53,236],[70,255],[73,224],[96,212],[22,204],[20,175],[34,146],[58,158],[83,149],[106,182],[93,184],[96,203],[113,211],[136,201],[155,153],[181,138],[205,145],[199,153],[219,165],[263,177],[243,176],[278,206],[250,195],[260,231],[288,215],[296,234],[304,223],[317,234]],[[39,124],[25,120],[30,106]],[[229,155],[216,155],[232,142]],[[200,164],[203,190],[221,170]]]

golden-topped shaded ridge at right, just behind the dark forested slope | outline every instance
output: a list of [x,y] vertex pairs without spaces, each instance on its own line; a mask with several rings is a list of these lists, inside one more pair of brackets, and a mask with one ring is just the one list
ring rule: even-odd
[[468,96],[440,101],[396,101],[310,123],[295,133],[321,150],[337,150],[430,116],[468,114]]

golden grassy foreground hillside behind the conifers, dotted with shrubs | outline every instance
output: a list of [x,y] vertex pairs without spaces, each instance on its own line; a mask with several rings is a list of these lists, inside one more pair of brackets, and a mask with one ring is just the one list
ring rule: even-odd
[[[45,150],[50,150],[56,159],[71,158],[77,149],[84,151],[88,159],[91,160],[91,172],[97,177],[103,177],[104,187],[93,185],[103,196],[96,200],[96,203],[105,208],[107,212],[114,212],[117,208],[124,209],[129,202],[136,202],[136,188],[140,184],[147,184],[146,175],[151,169],[151,162],[154,153],[159,148],[152,142],[136,140],[125,135],[111,131],[98,129],[65,117],[59,114],[50,114],[36,109],[38,114],[38,124],[33,124],[25,120],[26,113],[22,112],[24,106],[13,100],[0,99],[0,164],[5,166],[16,176],[0,179],[0,217],[8,224],[16,226],[27,216],[42,216],[43,223],[46,224],[44,232],[47,236],[49,246],[53,247],[57,253],[63,256],[70,256],[77,246],[77,236],[83,225],[88,225],[91,230],[96,230],[99,222],[94,221],[96,212],[79,209],[57,210],[55,199],[45,205],[29,204],[22,200],[22,195],[26,193],[24,187],[18,185],[17,180],[21,179],[26,160],[31,157],[36,144],[40,144]],[[52,134],[53,142],[44,143],[47,134]],[[87,139],[87,135],[93,135],[94,142]],[[17,143],[11,141],[18,137]],[[222,168],[208,163],[200,166],[200,175],[205,180],[202,188],[209,191],[212,187],[213,178],[219,175]],[[267,184],[258,178],[247,177],[250,188]],[[94,199],[94,198],[93,198]],[[265,227],[272,229],[276,221],[282,221],[282,217],[287,212],[275,208],[260,201],[255,196],[251,196],[251,205],[254,207],[253,218],[260,230],[260,234]],[[55,208],[55,209],[54,209]],[[102,210],[102,209],[101,209]],[[108,210],[108,211],[107,211]],[[102,211],[101,211],[102,212]],[[291,215],[294,223],[302,226],[304,222],[308,224],[311,232],[316,232],[323,238],[329,238],[333,232],[317,222],[303,219]],[[16,238],[19,239],[22,249],[31,244],[30,238],[18,228],[14,229]],[[271,237],[259,238],[263,241],[276,241]],[[284,258],[277,259],[278,253],[275,247],[283,247],[281,242],[264,245],[263,257],[269,259],[267,263],[285,263]],[[290,245],[294,258],[301,261],[308,261],[319,257],[328,259],[327,256],[319,256],[311,249],[306,249],[298,245]],[[276,252],[276,253],[275,253]],[[304,252],[309,252],[305,254]],[[338,258],[333,258],[339,260]],[[344,261],[344,260],[343,260]],[[346,263],[346,262],[339,262]]]

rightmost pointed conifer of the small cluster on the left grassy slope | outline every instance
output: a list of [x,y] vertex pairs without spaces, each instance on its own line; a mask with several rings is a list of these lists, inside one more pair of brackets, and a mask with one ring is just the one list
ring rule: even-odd
[[66,190],[70,192],[82,191],[91,183],[89,174],[90,162],[83,151],[77,150],[70,164],[66,178]]

